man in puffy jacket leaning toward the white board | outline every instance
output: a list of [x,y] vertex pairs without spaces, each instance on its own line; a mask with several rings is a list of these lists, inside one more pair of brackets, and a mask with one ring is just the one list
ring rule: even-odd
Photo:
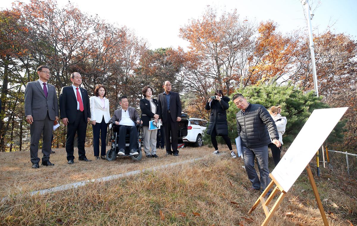
[[[236,115],[237,131],[241,136],[244,165],[248,178],[252,182],[250,190],[260,190],[261,187],[261,192],[263,192],[270,182],[268,144],[272,142],[277,147],[281,146],[278,130],[263,105],[248,103],[242,94],[235,94],[232,101],[238,109],[241,109]],[[254,169],[255,157],[257,157],[260,180]]]

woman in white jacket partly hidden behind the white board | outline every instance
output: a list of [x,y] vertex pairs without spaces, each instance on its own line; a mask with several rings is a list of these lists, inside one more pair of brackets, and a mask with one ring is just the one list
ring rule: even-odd
[[[281,112],[280,105],[270,107],[270,109],[268,109],[268,112],[270,113],[271,117],[275,121],[275,125],[278,129],[279,141],[282,146],[283,145],[283,134],[285,133],[285,127],[286,127],[286,123],[287,123],[286,117],[280,115],[280,112]],[[278,165],[278,163],[280,161],[281,146],[277,147],[273,143],[270,143],[268,145],[268,147],[270,147],[270,149],[271,149],[271,154],[273,155],[273,160],[274,160],[275,166]]]

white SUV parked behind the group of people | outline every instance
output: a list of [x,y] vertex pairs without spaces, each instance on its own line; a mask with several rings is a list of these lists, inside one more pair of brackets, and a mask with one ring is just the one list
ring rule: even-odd
[[207,123],[203,119],[190,118],[187,126],[187,136],[182,137],[183,142],[195,143],[196,147],[201,147],[203,130],[206,129]]

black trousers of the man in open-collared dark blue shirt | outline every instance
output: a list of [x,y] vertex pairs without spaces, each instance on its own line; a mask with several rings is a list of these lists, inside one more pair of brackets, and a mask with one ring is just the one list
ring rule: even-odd
[[[167,121],[163,123],[165,130],[165,143],[166,143],[166,153],[169,154],[178,154],[177,150],[177,130],[178,130],[178,122],[172,121],[171,115],[167,112]],[[171,142],[170,142],[171,136]],[[172,146],[172,150],[171,150]]]

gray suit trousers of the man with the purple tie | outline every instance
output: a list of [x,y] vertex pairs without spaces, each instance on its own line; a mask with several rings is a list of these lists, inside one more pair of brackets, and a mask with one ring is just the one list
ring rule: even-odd
[[40,162],[40,158],[37,157],[39,151],[39,141],[42,135],[42,162],[50,159],[51,152],[51,140],[53,132],[53,122],[47,112],[47,116],[44,120],[34,120],[30,124],[30,156],[31,162]]

